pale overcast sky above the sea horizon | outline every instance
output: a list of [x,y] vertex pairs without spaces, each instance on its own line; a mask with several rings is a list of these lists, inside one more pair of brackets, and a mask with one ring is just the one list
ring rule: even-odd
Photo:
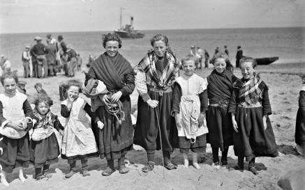
[[0,0],[0,33],[305,26],[304,0]]

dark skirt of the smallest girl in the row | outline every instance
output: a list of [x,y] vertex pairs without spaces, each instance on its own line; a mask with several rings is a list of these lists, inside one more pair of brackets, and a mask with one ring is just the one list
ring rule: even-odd
[[29,153],[34,168],[42,168],[46,164],[57,163],[60,152],[56,135],[53,133],[41,141],[31,140]]

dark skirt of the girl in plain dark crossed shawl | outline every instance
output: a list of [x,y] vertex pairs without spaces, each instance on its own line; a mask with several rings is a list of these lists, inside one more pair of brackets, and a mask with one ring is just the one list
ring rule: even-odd
[[207,143],[212,148],[224,148],[233,145],[233,126],[228,107],[209,106],[207,111]]

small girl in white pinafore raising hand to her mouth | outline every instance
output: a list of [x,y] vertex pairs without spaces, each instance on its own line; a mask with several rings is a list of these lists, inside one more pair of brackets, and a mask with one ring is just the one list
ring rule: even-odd
[[96,121],[97,125],[101,125],[101,120],[91,112],[89,104],[78,97],[81,87],[82,84],[79,81],[68,81],[67,99],[61,103],[61,116],[66,118],[61,158],[68,159],[70,164],[70,172],[65,176],[66,178],[75,174],[77,160],[82,163],[82,175],[89,176],[88,159],[98,157],[96,140],[86,113]]

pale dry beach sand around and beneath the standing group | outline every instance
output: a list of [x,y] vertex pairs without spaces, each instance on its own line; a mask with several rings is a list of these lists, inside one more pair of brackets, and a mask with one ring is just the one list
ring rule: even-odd
[[[272,115],[271,123],[278,144],[279,157],[259,157],[256,159],[256,168],[259,175],[253,175],[249,171],[229,171],[228,168],[237,164],[232,146],[228,155],[228,168],[216,170],[211,167],[212,155],[211,148],[208,145],[207,152],[200,154],[200,170],[193,166],[184,168],[182,165],[182,155],[179,150],[175,150],[172,155],[173,162],[178,164],[177,170],[168,171],[162,166],[162,155],[158,151],[156,155],[156,167],[150,173],[142,173],[141,168],[146,163],[147,157],[144,150],[132,150],[128,152],[128,167],[131,171],[121,175],[118,171],[110,177],[103,177],[101,171],[106,168],[105,159],[89,159],[89,173],[91,176],[82,177],[80,173],[75,174],[70,179],[64,179],[64,174],[68,172],[69,166],[66,160],[59,159],[58,164],[52,165],[51,173],[53,177],[50,180],[34,180],[34,168],[26,168],[25,175],[27,181],[21,184],[17,178],[17,171],[8,175],[10,187],[4,187],[0,184],[0,189],[281,189],[277,185],[278,179],[295,166],[305,164],[304,157],[297,155],[294,150],[295,145],[295,117],[298,109],[297,96],[302,87],[301,79],[291,73],[305,72],[304,63],[296,65],[270,65],[259,66],[261,77],[269,86],[269,98],[271,102]],[[207,77],[211,72],[209,70],[198,70],[196,73],[202,77]],[[290,73],[290,74],[281,74]],[[240,70],[236,69],[235,74],[241,77]],[[20,72],[20,76],[22,73]],[[79,79],[84,81],[84,74],[78,72],[76,77],[70,79]],[[36,93],[34,84],[40,82],[43,88],[54,100],[51,107],[53,113],[59,115],[61,123],[64,124],[64,118],[60,116],[59,84],[65,82],[68,78],[59,74],[58,77],[47,79],[22,79],[27,81],[27,91],[29,101],[33,100]],[[3,90],[3,88],[1,88]],[[131,95],[133,107],[137,104],[137,92]],[[57,132],[56,132],[57,133]],[[59,141],[59,137],[57,133]],[[60,142],[59,142],[60,143]],[[221,152],[219,152],[221,155]],[[191,160],[191,153],[189,155]],[[191,162],[191,161],[190,161]],[[117,166],[117,161],[115,161]],[[80,162],[77,162],[80,166]],[[117,167],[116,167],[117,168]],[[247,164],[245,166],[247,168]]]

